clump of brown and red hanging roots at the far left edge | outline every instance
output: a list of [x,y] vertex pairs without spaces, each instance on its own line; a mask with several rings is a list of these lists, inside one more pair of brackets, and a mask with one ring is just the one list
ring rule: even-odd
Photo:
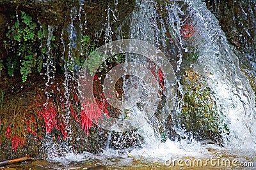
[[[0,143],[1,148],[11,143],[14,152],[19,146],[24,146],[28,138],[42,138],[42,121],[36,117],[36,105],[33,94],[13,97],[12,101],[1,97]],[[22,104],[23,103],[23,104]]]

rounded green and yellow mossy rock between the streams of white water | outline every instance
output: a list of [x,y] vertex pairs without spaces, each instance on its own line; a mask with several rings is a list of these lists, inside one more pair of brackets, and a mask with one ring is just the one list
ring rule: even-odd
[[205,78],[189,69],[180,76],[180,83],[184,90],[182,110],[179,113],[181,127],[196,139],[221,143],[223,115],[218,110],[214,92],[205,83]]

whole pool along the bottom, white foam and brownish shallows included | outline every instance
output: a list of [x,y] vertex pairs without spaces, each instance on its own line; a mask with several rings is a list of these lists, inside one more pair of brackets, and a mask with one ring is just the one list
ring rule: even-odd
[[[164,152],[165,151],[165,152]],[[63,157],[31,160],[0,169],[256,169],[252,151],[228,150],[213,144],[201,145],[167,141],[157,148],[104,150],[92,153],[66,153]]]

